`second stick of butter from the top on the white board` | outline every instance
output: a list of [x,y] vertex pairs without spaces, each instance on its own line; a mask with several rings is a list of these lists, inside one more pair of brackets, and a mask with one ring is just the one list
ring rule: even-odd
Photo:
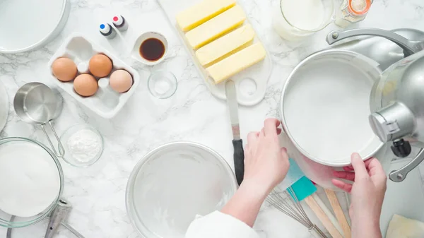
[[193,49],[197,49],[234,30],[242,25],[245,20],[245,12],[241,6],[236,5],[187,32],[187,41]]

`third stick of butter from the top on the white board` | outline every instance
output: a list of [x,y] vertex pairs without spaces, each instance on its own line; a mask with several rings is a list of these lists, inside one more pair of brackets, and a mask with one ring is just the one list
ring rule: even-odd
[[251,25],[244,25],[218,40],[215,40],[196,51],[196,57],[201,66],[214,64],[237,52],[251,43],[254,39],[254,30]]

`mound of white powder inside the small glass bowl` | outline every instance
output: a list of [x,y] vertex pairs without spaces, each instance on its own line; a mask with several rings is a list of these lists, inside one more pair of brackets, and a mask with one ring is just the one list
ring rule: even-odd
[[102,149],[102,138],[94,131],[83,129],[77,131],[66,141],[67,153],[80,162],[93,160]]

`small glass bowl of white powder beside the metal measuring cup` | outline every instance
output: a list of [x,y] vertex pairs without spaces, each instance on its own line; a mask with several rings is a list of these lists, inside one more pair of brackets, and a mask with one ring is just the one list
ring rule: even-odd
[[60,137],[64,145],[63,159],[75,167],[88,167],[100,159],[103,153],[103,138],[99,131],[88,124],[76,124]]

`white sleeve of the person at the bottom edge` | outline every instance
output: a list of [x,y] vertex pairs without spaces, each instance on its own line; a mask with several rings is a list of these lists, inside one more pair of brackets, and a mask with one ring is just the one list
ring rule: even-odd
[[259,238],[259,235],[245,222],[215,211],[194,220],[185,238]]

